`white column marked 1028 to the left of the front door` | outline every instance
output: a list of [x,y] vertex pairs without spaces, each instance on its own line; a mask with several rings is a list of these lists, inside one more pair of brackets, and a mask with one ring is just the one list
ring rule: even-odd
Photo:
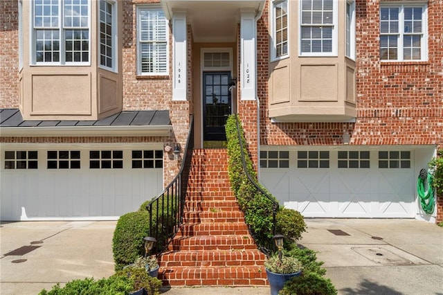
[[188,84],[186,37],[186,12],[172,12],[172,100],[186,100]]

